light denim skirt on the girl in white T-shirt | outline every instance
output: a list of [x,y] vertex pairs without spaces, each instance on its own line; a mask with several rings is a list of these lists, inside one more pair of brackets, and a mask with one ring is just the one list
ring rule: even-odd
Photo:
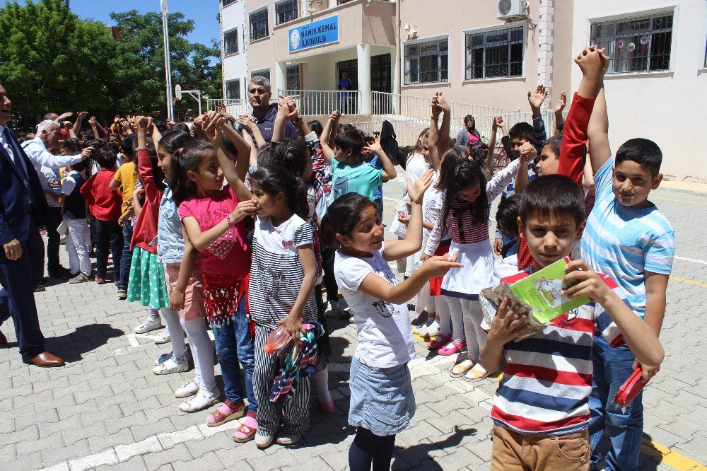
[[378,436],[399,434],[415,414],[415,396],[407,364],[371,368],[351,360],[349,424]]

